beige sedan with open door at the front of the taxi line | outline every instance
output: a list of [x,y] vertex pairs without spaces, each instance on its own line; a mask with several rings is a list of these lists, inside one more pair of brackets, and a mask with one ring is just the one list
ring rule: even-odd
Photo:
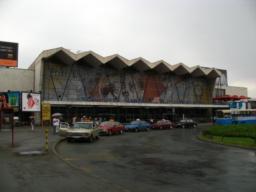
[[93,138],[99,140],[99,127],[94,122],[76,122],[73,127],[61,122],[59,135],[66,137],[67,141],[86,140],[92,143]]

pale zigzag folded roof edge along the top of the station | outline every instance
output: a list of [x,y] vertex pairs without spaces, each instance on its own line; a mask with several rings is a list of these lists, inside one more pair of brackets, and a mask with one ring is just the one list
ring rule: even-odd
[[88,65],[91,65],[92,67],[99,67],[100,65],[111,65],[117,70],[121,70],[125,67],[134,67],[140,72],[153,69],[156,70],[156,72],[158,72],[159,74],[173,72],[173,74],[177,76],[190,74],[193,77],[206,76],[209,79],[221,76],[221,72],[216,68],[205,69],[198,65],[195,67],[188,67],[183,63],[170,65],[163,60],[150,63],[150,61],[147,61],[144,58],[127,60],[118,54],[103,57],[92,51],[75,54],[74,52],[64,49],[63,47],[43,51],[32,63],[29,69],[35,68],[36,63],[38,63],[40,60],[49,60],[51,58],[58,58],[60,61],[67,65],[72,65],[72,63],[74,63],[75,61],[81,61],[87,63]]

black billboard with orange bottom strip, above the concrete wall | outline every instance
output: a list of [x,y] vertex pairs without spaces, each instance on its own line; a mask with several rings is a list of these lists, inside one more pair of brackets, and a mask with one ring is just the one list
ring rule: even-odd
[[18,67],[19,44],[0,41],[0,66]]

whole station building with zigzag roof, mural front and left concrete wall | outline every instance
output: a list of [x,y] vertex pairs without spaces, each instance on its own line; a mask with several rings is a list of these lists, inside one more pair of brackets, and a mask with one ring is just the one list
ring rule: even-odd
[[[127,60],[118,54],[103,57],[92,51],[75,54],[60,47],[43,51],[27,70],[1,68],[0,73],[6,79],[2,92],[40,93],[41,102],[51,104],[51,113],[62,113],[69,123],[72,116],[122,123],[136,118],[202,122],[211,120],[215,109],[228,108],[212,101],[221,77],[216,68]],[[40,112],[20,118],[29,115],[40,124]]]

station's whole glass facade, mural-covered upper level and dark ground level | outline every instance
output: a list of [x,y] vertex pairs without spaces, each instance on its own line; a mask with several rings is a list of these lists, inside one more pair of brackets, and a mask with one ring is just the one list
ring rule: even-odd
[[[92,67],[76,61],[66,65],[61,61],[45,61],[42,80],[42,100],[88,102],[83,106],[52,106],[51,113],[62,113],[63,121],[71,123],[72,116],[114,118],[128,123],[136,118],[175,122],[183,118],[201,121],[209,118],[209,109],[203,108],[148,108],[147,104],[212,104],[211,85],[205,76],[189,74],[176,76],[172,72],[159,74],[154,70],[139,72],[133,67],[117,70],[104,64]],[[89,102],[102,102],[90,106]],[[104,102],[122,102],[123,107],[104,106]],[[127,103],[145,103],[144,107],[125,106]]]

